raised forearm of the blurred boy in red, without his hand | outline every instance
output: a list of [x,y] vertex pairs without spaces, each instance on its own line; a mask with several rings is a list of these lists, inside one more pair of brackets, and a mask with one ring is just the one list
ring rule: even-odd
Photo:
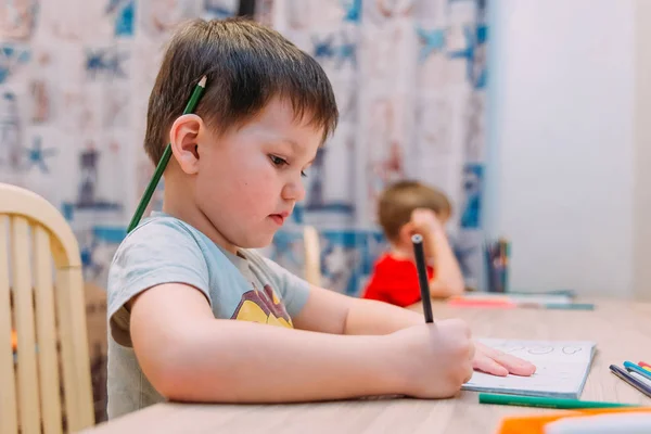
[[448,297],[463,293],[463,275],[445,233],[429,234],[427,256],[434,258],[436,272],[430,280],[432,297]]

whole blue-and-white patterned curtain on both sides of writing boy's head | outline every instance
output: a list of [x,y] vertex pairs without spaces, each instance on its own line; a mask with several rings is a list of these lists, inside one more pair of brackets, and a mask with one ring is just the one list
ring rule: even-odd
[[[153,167],[145,110],[163,43],[181,21],[235,0],[0,0],[0,181],[66,216],[86,279],[106,270]],[[385,248],[374,221],[387,183],[444,190],[470,285],[481,276],[486,85],[480,0],[257,0],[256,18],[322,65],[341,111],[308,195],[267,254],[302,272],[302,225],[321,237],[323,284],[358,294]],[[150,208],[159,208],[161,183]]]

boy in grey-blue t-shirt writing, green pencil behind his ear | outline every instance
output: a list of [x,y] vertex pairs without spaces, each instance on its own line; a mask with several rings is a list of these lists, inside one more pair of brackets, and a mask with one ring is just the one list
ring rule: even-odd
[[[196,114],[182,115],[207,77]],[[268,245],[335,127],[310,56],[253,22],[195,21],[173,38],[144,146],[169,141],[164,212],[124,240],[108,278],[108,417],[164,399],[286,403],[455,395],[473,367],[534,367],[470,339],[459,320],[308,285],[251,248]],[[277,326],[277,327],[270,327]]]

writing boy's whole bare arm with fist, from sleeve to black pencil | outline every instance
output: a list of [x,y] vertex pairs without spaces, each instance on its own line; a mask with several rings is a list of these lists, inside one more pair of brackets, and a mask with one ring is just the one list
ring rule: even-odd
[[316,333],[215,319],[200,291],[176,283],[146,290],[128,306],[139,365],[174,400],[443,397],[457,393],[472,371],[470,333],[460,321],[385,336]]

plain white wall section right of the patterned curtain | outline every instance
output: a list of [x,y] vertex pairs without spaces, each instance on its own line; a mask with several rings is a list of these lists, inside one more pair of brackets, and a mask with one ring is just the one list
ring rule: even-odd
[[634,0],[492,5],[485,224],[511,288],[630,296]]

